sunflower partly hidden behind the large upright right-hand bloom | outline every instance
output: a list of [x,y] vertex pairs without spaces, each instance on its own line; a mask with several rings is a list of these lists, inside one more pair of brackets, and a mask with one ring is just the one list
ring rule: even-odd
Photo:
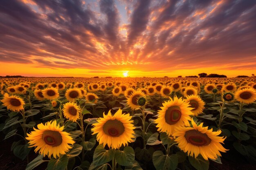
[[187,96],[185,102],[191,105],[189,107],[193,108],[191,112],[194,113],[195,116],[203,113],[205,103],[198,95]]

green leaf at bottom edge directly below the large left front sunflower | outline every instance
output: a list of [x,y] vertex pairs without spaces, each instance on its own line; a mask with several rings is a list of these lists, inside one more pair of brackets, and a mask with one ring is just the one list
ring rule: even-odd
[[67,155],[61,155],[59,159],[52,158],[47,165],[47,170],[65,170],[67,168]]

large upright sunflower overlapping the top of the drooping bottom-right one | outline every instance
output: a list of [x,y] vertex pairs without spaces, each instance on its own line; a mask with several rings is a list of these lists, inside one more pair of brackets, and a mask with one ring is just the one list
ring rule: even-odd
[[175,96],[174,99],[164,102],[163,107],[160,108],[162,110],[158,110],[158,117],[155,119],[159,132],[166,132],[170,136],[177,127],[189,126],[190,115],[193,115],[190,110],[193,108],[189,107],[189,104],[182,98],[178,99]]

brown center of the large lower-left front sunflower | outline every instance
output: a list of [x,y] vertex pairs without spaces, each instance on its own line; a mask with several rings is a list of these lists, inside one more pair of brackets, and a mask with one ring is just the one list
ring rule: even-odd
[[62,136],[60,132],[45,130],[42,135],[43,140],[47,145],[50,146],[59,146],[62,144]]

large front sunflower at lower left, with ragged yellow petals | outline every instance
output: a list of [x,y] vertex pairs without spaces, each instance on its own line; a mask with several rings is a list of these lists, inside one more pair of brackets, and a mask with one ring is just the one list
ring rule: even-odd
[[44,157],[47,155],[50,158],[53,155],[56,159],[72,148],[69,144],[75,143],[69,133],[63,132],[64,126],[57,125],[56,120],[52,123],[48,121],[45,125],[40,123],[37,128],[27,133],[26,139],[29,140],[29,148],[35,146],[35,152],[39,151]]

